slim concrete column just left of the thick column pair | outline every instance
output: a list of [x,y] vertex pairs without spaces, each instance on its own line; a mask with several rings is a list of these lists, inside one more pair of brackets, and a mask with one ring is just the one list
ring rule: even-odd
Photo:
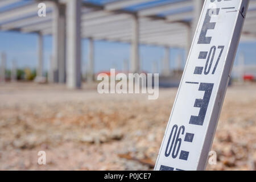
[[36,77],[43,77],[43,35],[41,33],[38,34],[38,65]]

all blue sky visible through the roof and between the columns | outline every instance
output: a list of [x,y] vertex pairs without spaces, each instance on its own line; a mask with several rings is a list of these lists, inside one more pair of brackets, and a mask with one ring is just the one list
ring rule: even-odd
[[[86,0],[93,3],[106,3],[108,1],[115,0]],[[145,7],[154,6],[158,3],[167,3],[182,0],[156,0],[154,2],[143,3],[140,6],[130,6],[127,10],[134,11]],[[30,0],[23,0],[22,3],[18,3],[0,11],[14,8],[15,6],[24,5],[30,3]],[[192,9],[180,10],[190,11]],[[163,15],[172,14],[173,12],[164,12]],[[0,52],[5,51],[7,54],[7,68],[11,67],[11,61],[15,59],[18,62],[18,67],[36,67],[36,34],[20,34],[19,32],[1,32],[0,31]],[[241,43],[237,54],[241,52],[245,53],[246,64],[256,64],[256,43]],[[178,55],[183,55],[183,64],[187,57],[183,49],[170,49],[170,67],[175,68],[175,60]],[[52,54],[52,38],[51,36],[44,36],[44,70],[48,68],[49,57]],[[158,62],[158,70],[160,72],[160,65],[164,57],[163,47],[154,46],[140,46],[140,57],[142,70],[146,72],[152,71],[152,63]],[[237,56],[238,57],[238,56]],[[236,57],[236,60],[237,60]],[[117,68],[122,70],[123,60],[130,60],[130,44],[125,43],[113,43],[113,42],[95,42],[95,72],[108,71],[110,68]],[[82,40],[82,63],[85,68],[88,61],[88,40]],[[236,61],[237,62],[237,61]],[[236,64],[236,63],[235,63]]]

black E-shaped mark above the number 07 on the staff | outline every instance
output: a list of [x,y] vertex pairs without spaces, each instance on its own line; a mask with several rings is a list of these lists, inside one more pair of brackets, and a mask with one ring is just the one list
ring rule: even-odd
[[208,30],[213,30],[215,28],[216,22],[210,22],[210,11],[214,12],[214,14],[218,15],[220,13],[220,9],[208,9],[207,14],[205,15],[204,23],[202,30],[200,32],[199,40],[197,44],[209,44],[212,37],[206,36]]

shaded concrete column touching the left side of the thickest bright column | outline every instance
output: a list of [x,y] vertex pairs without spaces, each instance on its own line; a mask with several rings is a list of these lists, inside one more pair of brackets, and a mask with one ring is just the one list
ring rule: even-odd
[[65,82],[65,5],[55,3],[53,9],[53,81]]

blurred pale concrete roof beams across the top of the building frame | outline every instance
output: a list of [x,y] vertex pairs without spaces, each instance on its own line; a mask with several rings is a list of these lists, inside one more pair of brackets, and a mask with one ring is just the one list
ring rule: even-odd
[[[1,6],[11,5],[19,2],[20,0],[3,0],[0,2]],[[32,0],[31,0],[32,1]],[[67,0],[59,0],[59,3],[64,3]],[[47,7],[52,8],[53,2],[47,2]],[[131,18],[132,16],[138,16],[140,19],[139,23],[139,34],[143,37],[143,41],[155,39],[157,42],[158,35],[172,36],[173,32],[171,27],[174,26],[174,22],[180,23],[179,29],[182,34],[181,37],[187,36],[187,28],[185,25],[188,20],[193,19],[193,1],[183,0],[177,2],[165,2],[159,3],[154,7],[146,7],[137,11],[129,11],[127,7],[139,5],[142,3],[154,2],[154,0],[119,0],[103,5],[94,4],[90,1],[82,2],[82,15],[81,15],[81,32],[83,38],[96,38],[102,40],[123,40],[128,41],[131,39]],[[13,10],[3,11],[0,13],[0,30],[1,31],[21,31],[21,32],[42,32],[43,35],[52,34],[52,13],[49,12],[47,17],[36,16],[38,7],[37,0],[34,3],[17,7]],[[183,10],[180,10],[183,9]],[[184,11],[187,9],[187,11]],[[180,10],[180,11],[177,11]],[[168,14],[168,12],[171,14]],[[174,13],[172,13],[174,11]],[[166,14],[165,16],[160,14]],[[144,22],[141,19],[146,18]],[[256,18],[256,1],[251,0],[249,11],[247,14],[247,20],[245,23],[245,34],[254,34],[254,20]],[[152,26],[151,26],[152,24]],[[100,28],[102,27],[102,28]],[[153,30],[154,27],[156,30]],[[170,28],[170,33],[168,30]],[[168,39],[164,41],[161,39],[158,44],[168,44]]]

